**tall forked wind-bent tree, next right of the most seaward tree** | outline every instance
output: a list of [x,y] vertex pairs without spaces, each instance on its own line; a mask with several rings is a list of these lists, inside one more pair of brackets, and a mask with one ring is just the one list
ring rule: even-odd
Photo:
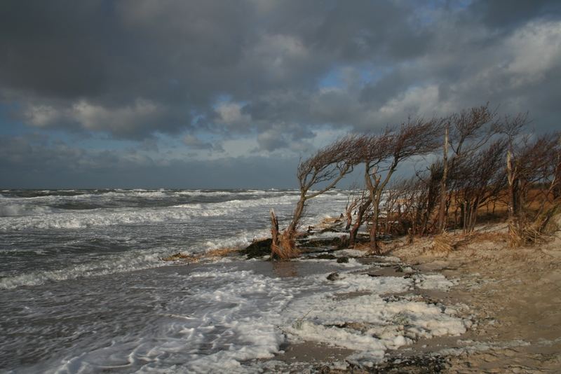
[[370,137],[366,144],[365,184],[372,200],[372,225],[370,226],[370,250],[379,253],[377,242],[379,207],[382,194],[400,162],[416,155],[435,151],[439,146],[443,121],[438,118],[409,119],[399,130],[387,130],[385,134]]

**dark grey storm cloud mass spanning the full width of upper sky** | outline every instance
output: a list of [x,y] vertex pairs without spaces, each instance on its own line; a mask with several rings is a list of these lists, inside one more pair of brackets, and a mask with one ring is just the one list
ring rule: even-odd
[[4,1],[0,100],[30,127],[248,134],[265,151],[306,148],[325,124],[487,101],[546,127],[561,114],[560,14],[557,1]]

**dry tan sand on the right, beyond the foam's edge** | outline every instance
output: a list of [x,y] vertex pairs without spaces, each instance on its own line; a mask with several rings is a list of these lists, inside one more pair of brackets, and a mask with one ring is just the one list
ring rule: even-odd
[[[493,228],[496,230],[496,227]],[[430,243],[393,251],[414,268],[440,272],[457,285],[446,303],[467,305],[477,324],[450,339],[419,341],[396,354],[437,354],[450,373],[557,373],[561,370],[561,240],[509,249],[501,231],[482,235],[450,254]],[[475,235],[477,237],[477,234]]]

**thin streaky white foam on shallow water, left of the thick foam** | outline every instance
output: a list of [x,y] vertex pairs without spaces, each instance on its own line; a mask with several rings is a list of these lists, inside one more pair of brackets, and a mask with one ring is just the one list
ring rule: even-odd
[[[211,280],[215,286],[205,286]],[[174,283],[189,285],[191,292],[168,308],[198,305],[193,314],[163,314],[157,339],[143,331],[111,336],[110,345],[68,354],[58,365],[51,363],[55,368],[48,372],[133,368],[135,372],[247,373],[243,361],[271,358],[280,351],[285,336],[273,321],[280,319],[280,311],[292,299],[283,284],[235,270],[194,272],[175,277]]]

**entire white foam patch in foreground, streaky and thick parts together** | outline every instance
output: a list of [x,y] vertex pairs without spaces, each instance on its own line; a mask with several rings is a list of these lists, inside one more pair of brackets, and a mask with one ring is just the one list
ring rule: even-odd
[[[335,282],[327,281],[326,274],[282,279],[227,266],[170,275],[173,289],[188,291],[164,299],[165,312],[157,322],[144,324],[140,331],[102,336],[107,342],[41,363],[41,370],[258,373],[259,365],[245,362],[272,358],[287,338],[356,349],[360,352],[349,361],[372,366],[388,349],[420,337],[457,335],[466,330],[463,320],[436,305],[381,298],[383,293],[411,289],[412,279],[372,278],[351,272],[343,272],[343,279]],[[142,288],[142,284],[135,286]],[[142,294],[165,295],[169,285],[160,287],[144,287]],[[352,291],[370,294],[344,296]],[[349,323],[364,328],[344,325]]]

